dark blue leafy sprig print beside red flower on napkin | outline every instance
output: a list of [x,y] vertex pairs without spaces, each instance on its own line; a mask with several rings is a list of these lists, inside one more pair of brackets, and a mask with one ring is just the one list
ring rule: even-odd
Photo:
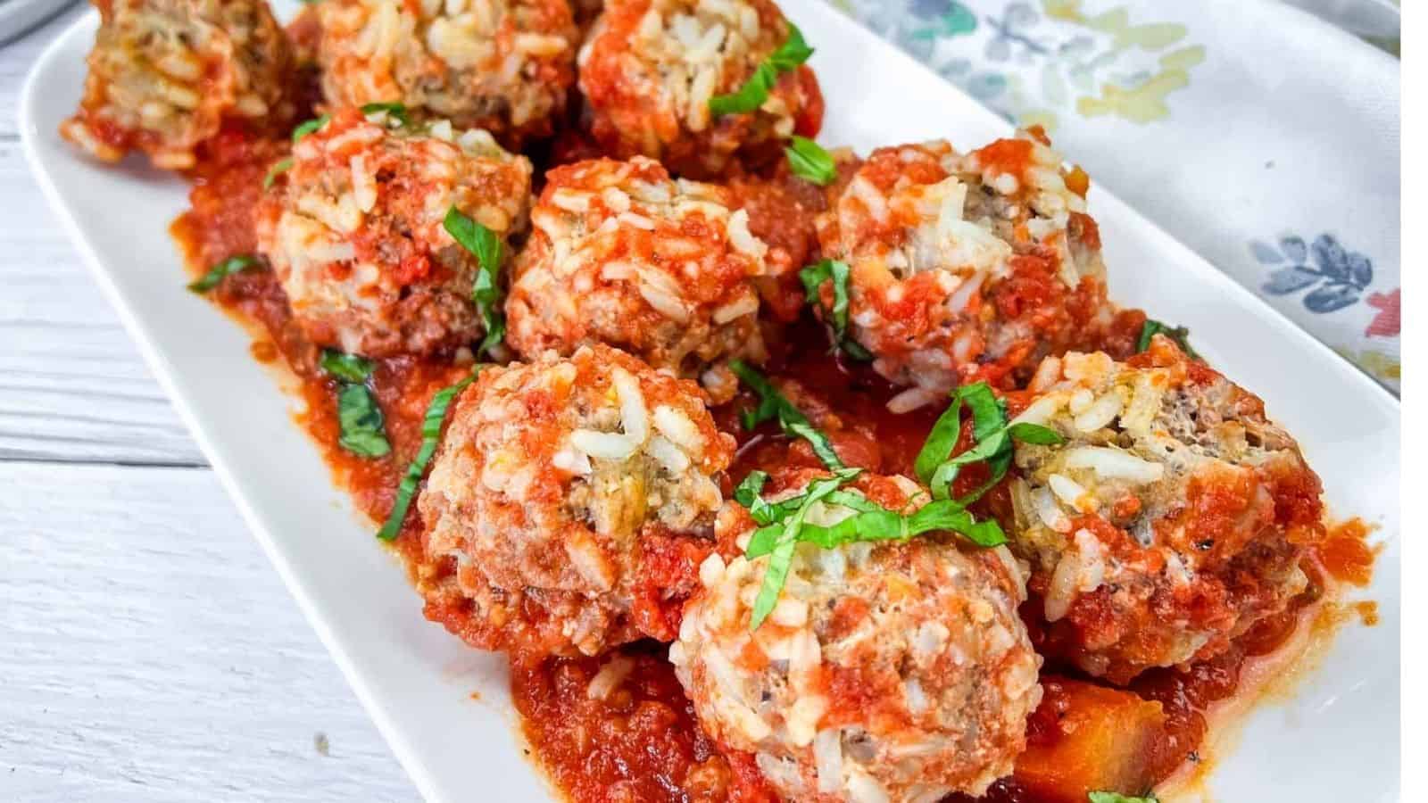
[[1312,287],[1304,296],[1304,306],[1311,313],[1332,313],[1355,304],[1374,281],[1374,263],[1344,249],[1334,234],[1319,234],[1308,246],[1294,234],[1279,237],[1278,247],[1251,240],[1250,251],[1259,264],[1284,266],[1269,273],[1262,284],[1265,293],[1288,296]]

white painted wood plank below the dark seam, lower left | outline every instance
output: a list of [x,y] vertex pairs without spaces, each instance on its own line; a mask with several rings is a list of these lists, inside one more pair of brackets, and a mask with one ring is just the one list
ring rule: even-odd
[[207,469],[0,463],[0,800],[416,799]]

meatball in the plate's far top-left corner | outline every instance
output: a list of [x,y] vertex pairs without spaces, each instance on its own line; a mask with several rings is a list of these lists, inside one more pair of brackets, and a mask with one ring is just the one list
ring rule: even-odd
[[263,0],[96,0],[80,110],[60,134],[96,159],[130,150],[187,170],[226,126],[287,121],[288,47]]

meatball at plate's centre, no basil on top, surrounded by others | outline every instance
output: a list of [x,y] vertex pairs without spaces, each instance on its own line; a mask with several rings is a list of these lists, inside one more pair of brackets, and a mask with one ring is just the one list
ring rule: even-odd
[[731,397],[723,363],[765,359],[754,279],[768,246],[727,203],[721,187],[673,181],[638,156],[551,170],[506,304],[511,347],[607,343]]

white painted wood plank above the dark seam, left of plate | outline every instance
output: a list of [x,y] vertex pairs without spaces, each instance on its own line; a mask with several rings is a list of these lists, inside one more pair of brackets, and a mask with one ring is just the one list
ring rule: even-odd
[[80,11],[0,50],[0,460],[201,464],[13,136],[24,71]]

